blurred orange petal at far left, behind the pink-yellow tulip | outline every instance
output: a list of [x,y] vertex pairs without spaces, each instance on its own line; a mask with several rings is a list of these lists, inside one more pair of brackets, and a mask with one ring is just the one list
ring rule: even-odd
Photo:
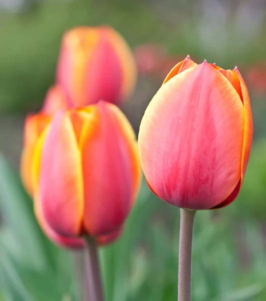
[[21,156],[21,177],[30,196],[33,196],[32,163],[36,142],[50,117],[42,114],[29,114],[25,120],[24,146]]

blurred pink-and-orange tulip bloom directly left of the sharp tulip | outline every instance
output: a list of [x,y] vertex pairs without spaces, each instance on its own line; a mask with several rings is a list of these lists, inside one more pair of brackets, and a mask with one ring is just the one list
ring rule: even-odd
[[112,242],[141,180],[129,121],[104,101],[60,110],[37,141],[32,180],[36,215],[48,236],[87,234],[99,244]]

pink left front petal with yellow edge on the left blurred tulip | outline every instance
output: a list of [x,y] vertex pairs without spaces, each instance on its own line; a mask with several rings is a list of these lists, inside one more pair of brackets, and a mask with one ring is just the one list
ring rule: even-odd
[[40,193],[45,219],[63,236],[80,233],[83,218],[81,156],[70,117],[53,118],[41,154]]

